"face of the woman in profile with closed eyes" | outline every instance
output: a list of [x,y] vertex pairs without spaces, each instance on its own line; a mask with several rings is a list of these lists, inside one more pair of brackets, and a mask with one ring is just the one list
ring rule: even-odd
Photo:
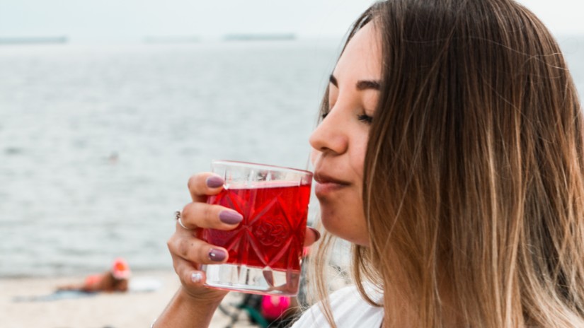
[[381,73],[379,37],[369,23],[345,47],[329,83],[329,112],[310,137],[323,225],[359,245],[369,244],[363,164]]

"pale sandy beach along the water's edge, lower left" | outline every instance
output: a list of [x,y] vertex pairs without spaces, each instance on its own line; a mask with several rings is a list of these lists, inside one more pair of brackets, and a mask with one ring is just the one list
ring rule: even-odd
[[[98,293],[77,298],[39,300],[55,286],[83,281],[83,276],[67,278],[0,279],[0,327],[4,328],[137,328],[150,327],[180,285],[173,272],[134,273],[137,282],[159,283],[154,291]],[[231,293],[225,305],[236,303]],[[235,327],[255,327],[241,315]],[[212,328],[223,328],[229,317],[217,310]]]

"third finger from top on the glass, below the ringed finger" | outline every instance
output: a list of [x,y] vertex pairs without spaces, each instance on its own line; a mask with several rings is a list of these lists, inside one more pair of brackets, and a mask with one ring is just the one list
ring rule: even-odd
[[[187,230],[183,229],[183,231],[186,232]],[[166,243],[173,257],[181,257],[181,259],[193,265],[221,264],[227,262],[229,253],[223,247],[207,244],[207,242],[194,238],[193,235],[185,234],[184,232],[175,233]]]

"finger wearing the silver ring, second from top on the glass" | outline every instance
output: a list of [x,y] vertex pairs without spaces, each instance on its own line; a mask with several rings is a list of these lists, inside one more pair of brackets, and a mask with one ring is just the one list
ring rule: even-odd
[[227,207],[206,203],[190,203],[183,208],[181,222],[188,229],[213,228],[230,230],[235,228],[244,216]]

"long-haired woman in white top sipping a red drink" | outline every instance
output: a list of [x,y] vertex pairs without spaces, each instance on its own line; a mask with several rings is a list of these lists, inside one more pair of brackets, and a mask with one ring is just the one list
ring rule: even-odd
[[[310,138],[321,220],[354,245],[358,293],[294,327],[584,327],[580,110],[553,37],[515,2],[374,4]],[[191,178],[187,228],[234,226],[202,203],[221,185]],[[168,247],[183,286],[154,327],[207,327],[225,293],[195,268],[224,250],[180,226]]]

